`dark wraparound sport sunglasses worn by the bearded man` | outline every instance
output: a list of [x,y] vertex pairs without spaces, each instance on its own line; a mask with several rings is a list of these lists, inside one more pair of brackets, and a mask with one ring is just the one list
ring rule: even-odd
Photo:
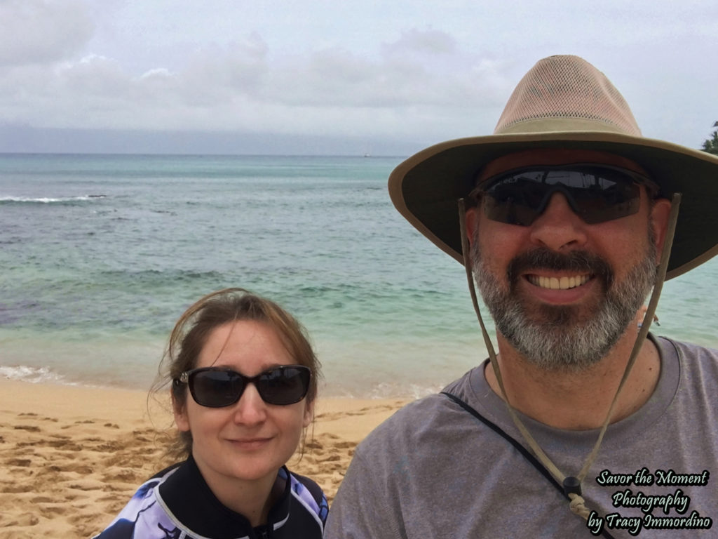
[[638,212],[640,185],[655,195],[658,188],[645,176],[610,165],[536,166],[502,172],[472,191],[485,215],[500,223],[529,226],[544,213],[554,193],[563,194],[572,210],[588,224],[603,223]]

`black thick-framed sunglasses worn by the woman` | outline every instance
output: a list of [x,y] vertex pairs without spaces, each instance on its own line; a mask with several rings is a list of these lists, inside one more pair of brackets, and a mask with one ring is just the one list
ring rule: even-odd
[[250,383],[267,404],[294,404],[307,396],[310,379],[312,370],[304,365],[272,367],[253,377],[223,367],[203,367],[183,372],[174,384],[187,384],[198,405],[220,408],[237,402]]

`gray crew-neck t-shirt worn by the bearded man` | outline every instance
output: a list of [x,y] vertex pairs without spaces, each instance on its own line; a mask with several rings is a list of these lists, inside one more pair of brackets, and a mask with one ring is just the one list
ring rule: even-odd
[[[615,538],[718,537],[718,351],[654,341],[656,390],[610,425],[584,479],[592,528],[600,518]],[[484,365],[446,390],[526,446]],[[578,474],[598,430],[521,419],[564,474]],[[588,524],[508,441],[445,395],[431,395],[360,443],[325,538],[589,538]]]

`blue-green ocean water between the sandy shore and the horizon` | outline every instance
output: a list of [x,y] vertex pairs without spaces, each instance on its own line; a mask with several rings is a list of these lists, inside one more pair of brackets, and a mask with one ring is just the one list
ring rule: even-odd
[[[439,390],[486,350],[462,266],[389,201],[401,160],[0,155],[0,376],[146,390],[183,310],[239,286],[302,321],[324,395]],[[653,332],[718,347],[717,285],[668,281]]]

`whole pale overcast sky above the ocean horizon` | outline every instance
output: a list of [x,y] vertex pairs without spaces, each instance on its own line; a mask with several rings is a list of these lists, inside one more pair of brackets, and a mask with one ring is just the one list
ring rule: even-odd
[[718,120],[713,0],[0,0],[0,151],[404,155],[576,54],[643,134]]

